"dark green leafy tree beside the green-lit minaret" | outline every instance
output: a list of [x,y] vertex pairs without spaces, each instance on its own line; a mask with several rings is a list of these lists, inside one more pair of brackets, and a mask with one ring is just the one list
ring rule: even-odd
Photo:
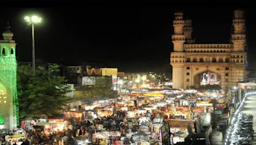
[[51,75],[58,71],[58,66],[52,66],[48,71],[37,67],[35,72],[30,66],[18,67],[17,91],[21,119],[61,113],[68,101],[65,94],[70,92],[70,86],[63,85],[64,77]]

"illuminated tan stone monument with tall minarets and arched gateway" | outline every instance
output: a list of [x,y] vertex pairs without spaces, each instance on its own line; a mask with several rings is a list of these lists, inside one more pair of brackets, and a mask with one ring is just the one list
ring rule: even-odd
[[176,12],[174,18],[170,54],[173,88],[198,88],[205,72],[223,89],[244,81],[247,56],[243,11],[234,11],[230,44],[196,44],[191,37],[191,20],[183,20],[182,12]]

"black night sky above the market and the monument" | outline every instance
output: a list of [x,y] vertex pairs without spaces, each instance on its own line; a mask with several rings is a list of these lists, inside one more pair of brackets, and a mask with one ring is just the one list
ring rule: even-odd
[[36,4],[35,8],[15,6],[1,8],[0,31],[4,31],[9,21],[18,43],[18,61],[31,61],[31,27],[26,29],[23,18],[29,13],[38,13],[42,24],[35,26],[36,59],[65,65],[88,62],[127,72],[164,71],[171,74],[175,11],[184,11],[184,17],[192,20],[196,43],[229,43],[233,10],[241,8],[246,15],[248,60],[250,67],[255,67],[256,22],[253,19],[256,10],[239,3],[209,5],[135,3],[125,6],[98,1],[82,6],[79,3],[70,6],[67,3],[63,6],[49,4],[51,8],[47,8],[47,4],[42,5],[46,8]]

